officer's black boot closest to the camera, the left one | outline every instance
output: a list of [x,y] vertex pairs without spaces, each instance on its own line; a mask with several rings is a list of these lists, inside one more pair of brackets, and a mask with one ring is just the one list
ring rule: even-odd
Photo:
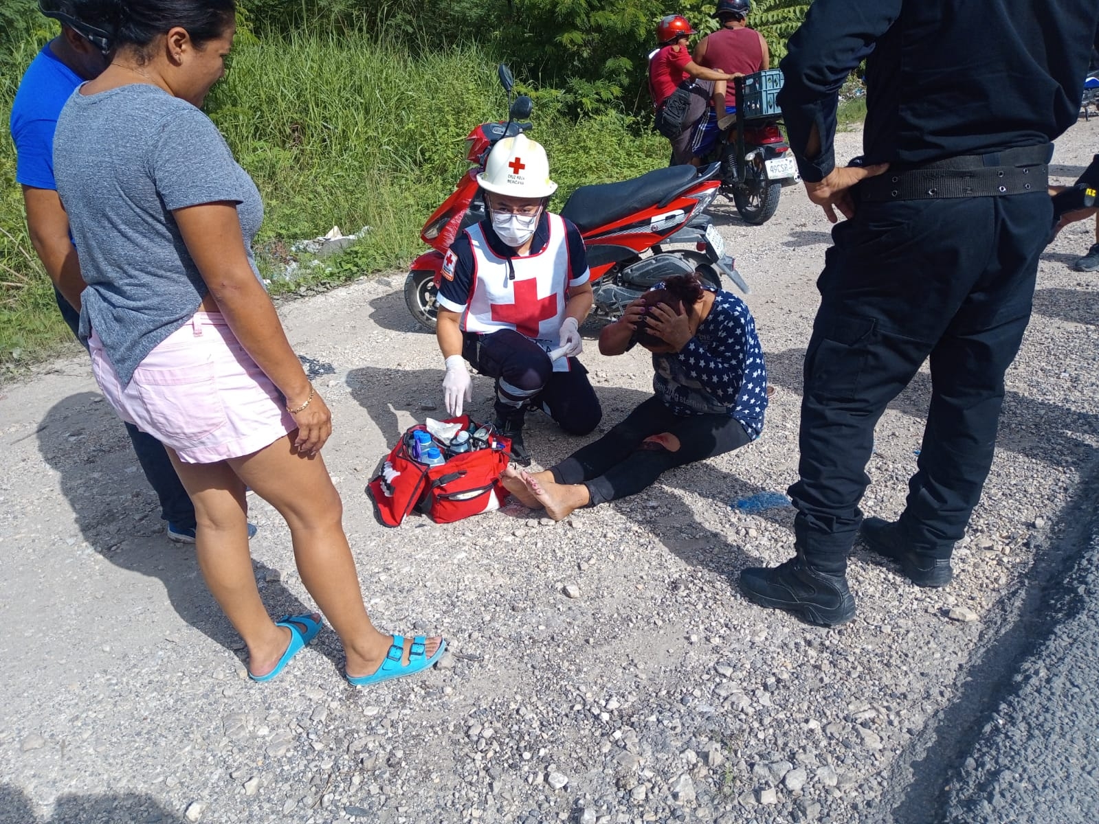
[[777,567],[743,570],[741,591],[761,606],[792,612],[810,624],[834,626],[855,617],[847,579],[813,569],[800,555]]

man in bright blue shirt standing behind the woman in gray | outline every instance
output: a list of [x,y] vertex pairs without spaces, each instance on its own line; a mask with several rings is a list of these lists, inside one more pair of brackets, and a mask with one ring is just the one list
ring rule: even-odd
[[[80,321],[80,261],[69,237],[68,218],[54,182],[54,131],[73,90],[97,77],[110,63],[109,34],[78,18],[77,3],[42,0],[38,8],[62,23],[62,33],[31,62],[11,108],[15,143],[15,181],[23,187],[31,243],[54,282],[57,308],[76,335]],[[167,535],[178,543],[195,541],[195,506],[179,482],[164,446],[126,424],[145,478],[160,499]],[[249,528],[249,534],[254,527]]]

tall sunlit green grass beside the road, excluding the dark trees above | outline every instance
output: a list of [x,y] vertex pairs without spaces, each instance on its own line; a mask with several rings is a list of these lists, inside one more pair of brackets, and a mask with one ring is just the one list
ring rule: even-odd
[[[36,52],[27,44],[16,65]],[[10,65],[10,64],[9,64]],[[7,114],[22,68],[0,77]],[[577,186],[641,175],[666,163],[667,142],[620,114],[579,121],[565,113],[559,92],[535,98],[531,136],[550,154],[559,207]],[[466,133],[507,116],[496,63],[475,47],[412,56],[366,35],[296,34],[234,48],[225,79],[207,111],[264,197],[256,238],[266,272],[279,270],[288,243],[368,225],[367,237],[325,266],[275,292],[313,281],[341,282],[403,267],[425,247],[428,215],[467,168]],[[49,354],[68,334],[52,308],[14,183],[14,153],[0,141],[0,364]],[[265,256],[266,255],[266,256]]]

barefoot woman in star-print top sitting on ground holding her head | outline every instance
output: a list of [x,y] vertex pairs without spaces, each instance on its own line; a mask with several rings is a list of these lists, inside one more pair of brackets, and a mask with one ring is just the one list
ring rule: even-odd
[[755,441],[767,409],[767,372],[755,321],[735,294],[697,274],[668,278],[599,335],[603,355],[635,344],[653,353],[654,397],[588,446],[542,472],[509,466],[503,483],[559,521],[580,506],[636,494],[673,467]]

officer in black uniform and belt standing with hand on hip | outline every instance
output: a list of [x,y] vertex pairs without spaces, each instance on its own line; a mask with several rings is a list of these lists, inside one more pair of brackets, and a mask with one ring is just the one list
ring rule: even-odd
[[[810,200],[847,220],[832,232],[806,353],[797,556],[742,572],[754,602],[850,621],[861,524],[913,583],[950,582],[1053,220],[1051,141],[1076,122],[1097,22],[1096,0],[817,0],[790,38],[789,142]],[[864,57],[865,154],[841,168],[837,90]],[[904,511],[863,522],[874,426],[926,358],[931,407]]]

